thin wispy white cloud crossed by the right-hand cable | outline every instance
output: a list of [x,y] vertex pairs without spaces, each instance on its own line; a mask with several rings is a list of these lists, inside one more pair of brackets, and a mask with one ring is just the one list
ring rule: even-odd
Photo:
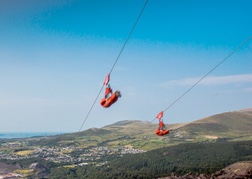
[[[180,80],[171,80],[161,84],[161,87],[169,88],[172,86],[192,86],[199,82],[202,77],[184,78]],[[229,76],[210,76],[202,79],[197,85],[226,85],[226,84],[245,84],[252,83],[252,74],[229,75]]]

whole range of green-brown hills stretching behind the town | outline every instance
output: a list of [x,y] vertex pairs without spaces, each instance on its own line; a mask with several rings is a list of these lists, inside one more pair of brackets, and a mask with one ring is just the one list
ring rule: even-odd
[[252,139],[252,109],[226,112],[191,123],[166,124],[168,135],[157,136],[157,124],[148,121],[125,120],[102,128],[53,136],[35,141],[36,145],[78,146],[89,148],[122,146],[152,150],[180,143],[201,141],[240,141]]

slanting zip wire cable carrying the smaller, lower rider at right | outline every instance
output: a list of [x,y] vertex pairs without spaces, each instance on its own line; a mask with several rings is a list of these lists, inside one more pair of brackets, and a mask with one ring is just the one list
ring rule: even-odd
[[[244,42],[242,42],[238,47],[236,47],[228,56],[226,56],[222,61],[220,61],[214,68],[212,68],[208,73],[206,73],[203,77],[201,77],[194,85],[192,85],[187,91],[185,91],[181,96],[179,96],[173,103],[171,103],[163,112],[167,111],[170,107],[172,107],[176,102],[178,102],[183,96],[185,96],[188,92],[190,92],[197,84],[199,84],[204,78],[206,78],[210,73],[212,73],[217,67],[219,67],[224,61],[226,61],[230,56],[232,56],[236,51],[238,51],[244,44],[246,44],[252,36],[247,38]],[[155,118],[156,119],[156,118]],[[153,119],[151,122],[153,122]]]

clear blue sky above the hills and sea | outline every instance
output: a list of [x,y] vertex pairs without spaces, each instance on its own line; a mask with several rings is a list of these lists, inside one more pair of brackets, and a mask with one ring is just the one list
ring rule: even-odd
[[[76,132],[145,0],[1,0],[0,132]],[[250,0],[149,0],[83,130],[152,121],[252,35]],[[252,107],[252,41],[164,113],[190,122]],[[156,121],[155,121],[156,122]]]

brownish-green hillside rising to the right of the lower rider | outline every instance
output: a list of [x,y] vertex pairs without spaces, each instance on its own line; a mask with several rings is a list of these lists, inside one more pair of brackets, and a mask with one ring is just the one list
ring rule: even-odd
[[246,109],[206,117],[176,128],[175,132],[198,140],[251,140],[251,129],[252,109]]

